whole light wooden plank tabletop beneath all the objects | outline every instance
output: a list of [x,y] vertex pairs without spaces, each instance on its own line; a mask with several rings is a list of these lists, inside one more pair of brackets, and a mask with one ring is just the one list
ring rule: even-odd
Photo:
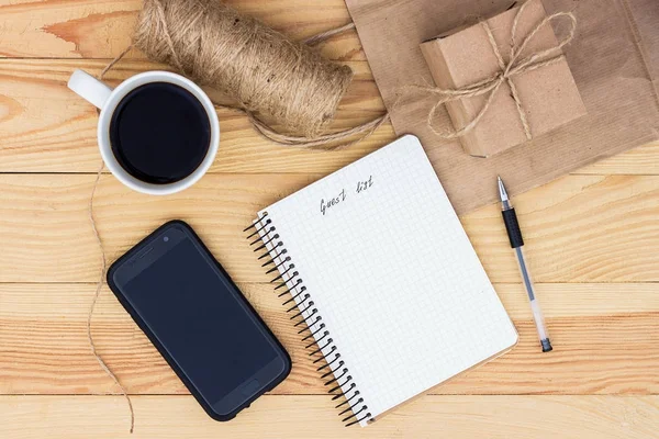
[[[349,21],[343,0],[232,1],[301,38]],[[86,318],[100,254],[88,202],[100,165],[97,113],[66,88],[130,41],[138,0],[0,0],[0,437],[130,437],[129,412],[91,356]],[[356,79],[335,126],[383,111],[357,35],[322,46]],[[113,83],[157,68],[138,53]],[[255,212],[394,138],[390,126],[337,153],[264,142],[221,111],[210,175],[154,198],[103,175],[99,232],[113,260],[170,218],[188,221],[291,352],[290,376],[228,424],[205,416],[103,289],[92,331],[132,394],[134,438],[656,438],[659,435],[659,144],[515,199],[555,351],[537,346],[498,206],[466,215],[521,335],[509,354],[367,429],[346,429],[244,243]]]

